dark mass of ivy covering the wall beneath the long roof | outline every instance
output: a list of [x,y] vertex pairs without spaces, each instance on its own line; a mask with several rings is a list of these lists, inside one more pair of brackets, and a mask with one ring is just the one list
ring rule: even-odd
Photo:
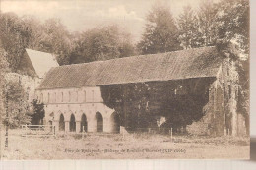
[[[205,92],[213,79],[138,83],[129,85],[101,85],[104,104],[120,114],[126,128],[156,128],[160,116],[166,118],[163,127],[178,128],[198,121],[208,102]],[[194,85],[193,90],[191,85]],[[182,87],[181,87],[182,86]],[[189,95],[187,92],[189,91]],[[125,110],[124,110],[125,109]],[[193,113],[193,114],[191,114]]]

